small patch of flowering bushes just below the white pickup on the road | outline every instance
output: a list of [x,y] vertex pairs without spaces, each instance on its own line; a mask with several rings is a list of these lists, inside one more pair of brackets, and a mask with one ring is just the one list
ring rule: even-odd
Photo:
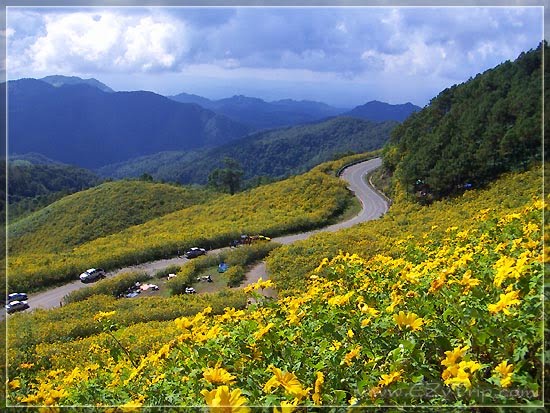
[[72,291],[63,298],[63,301],[66,304],[74,303],[86,300],[93,295],[110,295],[112,297],[118,297],[119,294],[122,294],[136,282],[146,281],[150,278],[151,276],[143,271],[125,272],[114,277],[97,281],[91,286]]

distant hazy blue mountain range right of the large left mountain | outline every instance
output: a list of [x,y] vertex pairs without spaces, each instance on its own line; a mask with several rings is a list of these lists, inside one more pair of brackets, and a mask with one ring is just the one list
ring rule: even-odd
[[254,130],[292,126],[318,121],[343,112],[325,103],[292,99],[266,102],[247,96],[210,100],[197,95],[180,93],[170,96],[178,102],[195,103],[216,113],[228,116]]

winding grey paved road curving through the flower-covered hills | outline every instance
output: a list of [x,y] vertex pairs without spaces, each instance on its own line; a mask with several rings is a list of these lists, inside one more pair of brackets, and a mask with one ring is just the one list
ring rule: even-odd
[[[358,215],[356,215],[355,217],[347,221],[339,222],[337,224],[330,225],[328,227],[317,229],[314,231],[273,238],[273,241],[278,242],[280,244],[291,244],[295,241],[309,238],[311,235],[319,232],[337,231],[339,229],[348,228],[360,222],[370,221],[382,216],[388,210],[388,202],[379,192],[374,190],[364,180],[365,175],[375,170],[376,168],[380,167],[381,164],[382,164],[382,161],[380,158],[370,159],[368,161],[361,162],[361,163],[347,167],[346,169],[344,169],[344,171],[340,175],[342,179],[348,182],[348,188],[361,201],[362,209]],[[212,250],[212,252],[216,253],[224,249],[226,248]],[[158,260],[158,261],[151,261],[144,264],[121,268],[119,270],[112,271],[108,273],[107,276],[110,277],[120,272],[128,271],[128,270],[144,270],[151,274],[169,265],[181,265],[187,261],[188,260],[186,258],[179,258],[179,257]],[[251,271],[247,276],[246,284],[256,282],[257,279],[263,275],[265,275],[265,263],[262,262],[251,269]],[[37,294],[32,294],[29,296],[29,304],[31,306],[31,309],[59,307],[65,295],[67,295],[72,291],[83,288],[85,286],[86,285],[82,284],[80,280],[77,280],[60,287],[52,288],[50,290],[43,291]]]

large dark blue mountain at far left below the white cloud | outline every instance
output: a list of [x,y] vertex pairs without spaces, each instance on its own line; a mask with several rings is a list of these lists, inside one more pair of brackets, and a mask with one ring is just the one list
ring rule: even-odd
[[221,145],[248,132],[225,116],[151,92],[21,79],[9,82],[8,94],[11,153],[38,152],[83,167]]

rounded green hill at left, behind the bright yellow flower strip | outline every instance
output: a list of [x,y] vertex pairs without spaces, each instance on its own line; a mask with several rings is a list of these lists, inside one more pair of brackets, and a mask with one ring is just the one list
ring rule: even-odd
[[143,182],[106,182],[8,227],[9,253],[56,253],[216,197],[211,191]]

